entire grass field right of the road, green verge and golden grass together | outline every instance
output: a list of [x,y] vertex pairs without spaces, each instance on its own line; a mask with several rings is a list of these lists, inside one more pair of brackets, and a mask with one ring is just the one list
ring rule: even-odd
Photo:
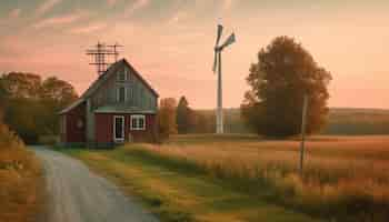
[[162,145],[72,150],[166,221],[388,221],[389,137],[184,135]]

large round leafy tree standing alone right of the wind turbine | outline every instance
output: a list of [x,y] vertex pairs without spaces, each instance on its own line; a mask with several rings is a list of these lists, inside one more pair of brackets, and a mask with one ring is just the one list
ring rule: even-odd
[[289,37],[276,38],[251,64],[241,111],[259,134],[288,137],[300,133],[302,102],[309,98],[307,133],[323,125],[328,113],[327,87],[331,74]]

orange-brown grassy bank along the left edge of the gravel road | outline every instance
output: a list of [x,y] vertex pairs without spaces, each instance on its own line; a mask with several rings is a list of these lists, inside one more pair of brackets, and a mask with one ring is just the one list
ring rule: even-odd
[[43,210],[42,184],[39,161],[0,124],[0,221],[39,221]]

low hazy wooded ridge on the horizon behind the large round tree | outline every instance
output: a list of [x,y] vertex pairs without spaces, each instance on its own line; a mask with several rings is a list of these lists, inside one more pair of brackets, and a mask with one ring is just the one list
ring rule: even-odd
[[[213,110],[198,110],[215,114]],[[249,133],[239,108],[225,109],[225,131],[229,133]],[[389,134],[389,110],[330,108],[328,123],[321,134],[361,135]]]

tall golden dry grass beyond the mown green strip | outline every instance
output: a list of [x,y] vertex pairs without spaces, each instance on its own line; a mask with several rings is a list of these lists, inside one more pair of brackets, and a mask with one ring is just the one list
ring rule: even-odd
[[143,149],[307,213],[338,221],[389,221],[389,137],[312,139],[302,176],[299,142],[293,140],[181,137]]

